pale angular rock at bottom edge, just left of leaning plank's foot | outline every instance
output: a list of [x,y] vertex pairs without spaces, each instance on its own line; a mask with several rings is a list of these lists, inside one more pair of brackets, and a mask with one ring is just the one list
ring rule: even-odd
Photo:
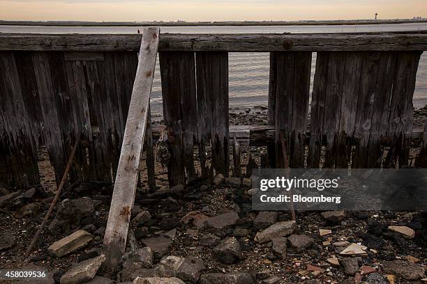
[[80,262],[75,267],[66,271],[61,277],[61,284],[80,284],[91,280],[105,261],[105,255]]

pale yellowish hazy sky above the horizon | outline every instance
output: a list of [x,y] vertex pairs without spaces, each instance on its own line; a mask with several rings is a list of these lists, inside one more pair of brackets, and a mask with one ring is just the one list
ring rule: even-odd
[[0,0],[3,20],[241,21],[427,17],[427,0]]

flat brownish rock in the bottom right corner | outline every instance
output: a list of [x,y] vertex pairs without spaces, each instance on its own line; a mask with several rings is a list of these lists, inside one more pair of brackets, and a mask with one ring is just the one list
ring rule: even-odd
[[419,280],[425,277],[426,268],[404,260],[393,260],[382,262],[382,271],[405,280]]

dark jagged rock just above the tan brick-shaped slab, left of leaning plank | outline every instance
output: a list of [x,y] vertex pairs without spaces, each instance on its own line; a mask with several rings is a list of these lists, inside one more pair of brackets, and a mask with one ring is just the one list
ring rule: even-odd
[[64,199],[57,207],[57,216],[49,226],[55,233],[68,232],[70,226],[78,226],[82,219],[92,217],[95,212],[92,200],[87,197]]

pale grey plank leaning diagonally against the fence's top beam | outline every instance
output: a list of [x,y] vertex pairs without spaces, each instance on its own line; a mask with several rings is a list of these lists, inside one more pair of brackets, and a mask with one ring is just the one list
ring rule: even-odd
[[144,141],[147,127],[147,113],[154,68],[156,67],[159,32],[158,28],[153,27],[144,28],[142,32],[140,62],[133,84],[110,214],[105,230],[103,250],[107,258],[105,261],[106,268],[117,267],[126,248],[130,212],[135,200],[142,141]]

